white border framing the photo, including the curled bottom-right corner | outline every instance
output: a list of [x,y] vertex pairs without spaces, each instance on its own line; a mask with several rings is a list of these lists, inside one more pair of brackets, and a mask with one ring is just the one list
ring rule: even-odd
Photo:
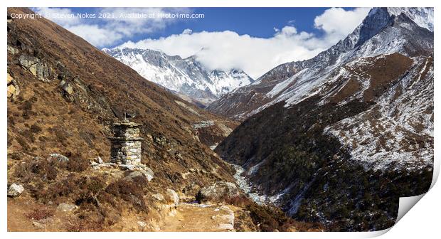
[[[14,0],[14,1],[1,1],[1,18],[4,19],[4,25],[1,31],[1,42],[0,46],[6,46],[6,7],[7,6],[137,6],[137,7],[147,7],[147,6],[174,6],[174,7],[197,7],[197,6],[297,6],[297,7],[331,7],[331,6],[434,6],[435,7],[435,21],[438,14],[438,4],[441,1],[427,1],[427,0],[401,0],[401,1],[384,1],[384,0],[371,0],[371,1],[348,1],[348,0],[308,0],[308,1],[283,1],[283,0],[271,0],[271,1],[233,1],[233,0],[223,0],[223,1],[210,1],[210,0],[161,0],[161,1],[134,1],[134,0],[90,0],[90,1],[65,1],[65,0],[46,0],[46,1],[26,1],[26,0]],[[435,22],[435,45],[437,45],[438,34],[440,29],[437,27],[438,24]],[[435,75],[438,75],[437,66],[437,47],[435,47]],[[1,75],[6,75],[6,47],[1,51]],[[436,77],[435,77],[436,78]],[[1,166],[1,176],[3,179],[3,184],[1,187],[1,208],[6,208],[6,84],[1,84],[1,90],[4,92],[0,97],[0,107],[3,112],[2,117],[0,117],[0,152],[1,159],[3,159],[3,166]],[[440,84],[435,80],[435,92],[440,92]],[[435,94],[435,115],[440,115],[440,96]],[[435,121],[435,136],[440,135],[440,127],[436,126],[437,121]],[[440,171],[440,159],[439,155],[440,149],[437,147],[437,141],[435,140],[435,170],[434,170],[434,180],[432,181],[432,187],[436,181],[437,176]],[[410,210],[408,216],[403,217],[398,224],[390,228],[390,233],[386,233],[388,230],[373,233],[6,233],[6,211],[0,218],[1,223],[1,234],[3,238],[77,238],[78,236],[83,236],[86,238],[99,237],[99,238],[366,238],[373,237],[376,235],[384,235],[384,238],[401,238],[408,236],[412,237],[430,237],[439,234],[439,218],[440,206],[438,199],[441,198],[440,186],[433,187],[427,195],[422,199],[421,203],[415,205],[415,209]],[[402,198],[400,200],[400,211],[402,210],[403,203],[401,201],[407,201],[408,205],[406,209],[413,206],[422,196],[417,196],[413,198]],[[415,200],[418,199],[418,200]],[[408,210],[405,210],[408,211]]]

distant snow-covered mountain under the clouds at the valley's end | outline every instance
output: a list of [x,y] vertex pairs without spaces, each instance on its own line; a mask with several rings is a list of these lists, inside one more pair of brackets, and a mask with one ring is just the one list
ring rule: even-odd
[[207,70],[194,55],[181,58],[150,49],[118,47],[102,51],[129,65],[147,80],[203,103],[254,82],[243,70]]

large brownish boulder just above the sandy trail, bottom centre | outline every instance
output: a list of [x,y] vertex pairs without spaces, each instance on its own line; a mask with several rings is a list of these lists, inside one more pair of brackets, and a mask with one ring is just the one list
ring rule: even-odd
[[220,181],[211,186],[201,188],[196,194],[196,201],[224,201],[227,198],[240,196],[240,191],[235,184]]

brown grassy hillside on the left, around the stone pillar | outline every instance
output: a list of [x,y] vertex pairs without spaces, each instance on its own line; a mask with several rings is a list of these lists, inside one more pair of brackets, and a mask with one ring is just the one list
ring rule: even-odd
[[[235,122],[183,102],[45,18],[13,13],[33,12],[8,9],[9,231],[168,230],[174,208],[194,203],[201,188],[235,181],[209,148]],[[137,167],[109,163],[110,126],[126,113],[142,124]],[[235,192],[212,195],[237,211],[228,230],[312,228]]]

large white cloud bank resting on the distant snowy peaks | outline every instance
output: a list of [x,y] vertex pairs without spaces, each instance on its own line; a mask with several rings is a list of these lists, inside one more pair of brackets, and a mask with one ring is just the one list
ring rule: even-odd
[[[336,16],[335,11],[341,11],[341,18],[347,17],[345,22],[351,23],[341,23],[341,18],[332,18]],[[150,48],[183,58],[196,54],[196,58],[210,69],[240,68],[251,77],[258,78],[277,65],[312,58],[326,50],[354,31],[367,12],[368,9],[326,10],[315,21],[316,27],[324,31],[320,37],[313,33],[298,32],[294,26],[274,28],[275,34],[271,38],[239,35],[234,31],[195,33],[186,29],[181,34],[159,39],[148,38],[137,43],[128,41],[119,47]],[[359,16],[363,13],[363,17]],[[334,23],[325,23],[326,19]],[[338,28],[337,25],[344,26]]]

